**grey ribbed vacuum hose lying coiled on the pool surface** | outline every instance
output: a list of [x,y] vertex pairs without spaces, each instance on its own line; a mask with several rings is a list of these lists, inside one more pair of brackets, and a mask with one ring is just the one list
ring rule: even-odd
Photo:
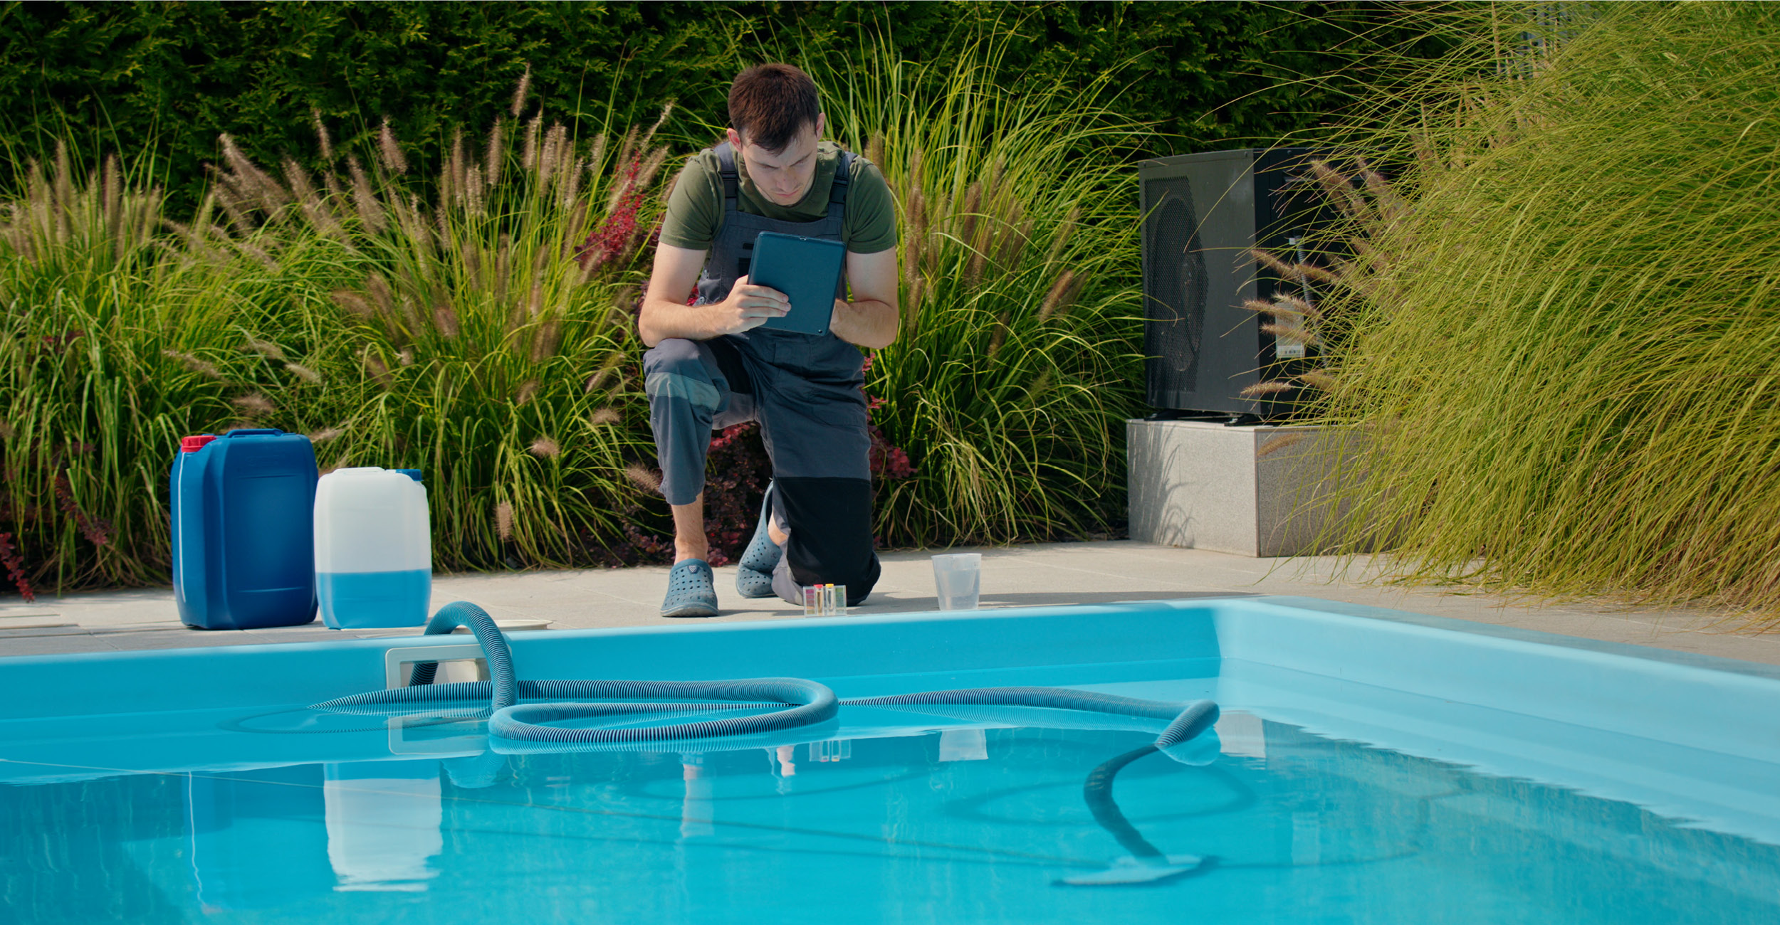
[[[495,626],[488,612],[473,603],[456,601],[441,607],[427,623],[425,635],[450,633],[457,626],[468,626],[475,633],[475,640],[482,646],[482,653],[488,658],[491,680],[434,685],[433,676],[438,665],[434,662],[422,662],[409,674],[409,687],[354,694],[319,703],[313,708],[358,712],[367,708],[436,708],[461,704],[463,701],[490,701],[493,713],[488,717],[488,733],[491,736],[554,744],[684,742],[776,733],[833,719],[840,706],[1043,706],[1052,710],[1166,719],[1171,722],[1152,745],[1159,751],[1187,742],[1218,722],[1218,704],[1212,701],[1180,704],[1057,687],[983,687],[842,701],[826,685],[803,678],[744,678],[735,681],[522,681],[513,676],[513,649],[507,648],[506,635]],[[716,710],[771,712],[650,728],[577,729],[543,726],[543,722],[570,719],[710,713]]]

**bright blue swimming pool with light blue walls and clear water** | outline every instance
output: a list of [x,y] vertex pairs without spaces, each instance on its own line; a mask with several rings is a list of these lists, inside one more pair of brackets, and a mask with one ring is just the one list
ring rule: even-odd
[[[475,722],[304,710],[441,637],[7,658],[7,918],[1780,920],[1764,665],[1299,598],[511,639],[522,678],[1066,685],[1223,715],[1096,793],[1161,724],[842,708],[789,745],[498,754]],[[1198,863],[1070,886],[1132,836]]]

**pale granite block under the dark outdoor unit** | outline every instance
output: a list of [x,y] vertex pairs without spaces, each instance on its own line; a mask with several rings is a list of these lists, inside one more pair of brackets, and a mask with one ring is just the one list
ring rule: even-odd
[[1130,539],[1143,543],[1255,557],[1328,551],[1347,507],[1337,487],[1360,479],[1351,430],[1132,420],[1125,434]]

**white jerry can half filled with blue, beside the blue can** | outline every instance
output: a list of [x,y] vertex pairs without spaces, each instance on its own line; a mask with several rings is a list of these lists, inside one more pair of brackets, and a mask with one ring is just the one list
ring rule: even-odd
[[315,486],[315,591],[333,630],[422,626],[433,534],[420,470],[335,470]]

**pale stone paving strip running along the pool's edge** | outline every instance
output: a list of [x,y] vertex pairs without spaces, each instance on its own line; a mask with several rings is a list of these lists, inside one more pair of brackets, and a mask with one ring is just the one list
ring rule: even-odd
[[[936,610],[929,557],[943,551],[983,553],[984,608],[1296,594],[1780,665],[1780,628],[1752,626],[1744,617],[1727,612],[1611,601],[1552,603],[1463,589],[1403,589],[1367,583],[1365,575],[1378,567],[1371,557],[1251,559],[1134,541],[890,551],[883,555],[883,578],[870,601],[853,612]],[[801,607],[776,598],[739,598],[733,566],[716,571],[717,598],[724,610],[712,619],[803,619]],[[707,623],[662,619],[659,610],[666,585],[666,566],[440,575],[433,580],[433,607],[466,599],[497,619],[548,619],[555,630]],[[328,630],[320,621],[269,630],[189,630],[180,624],[171,589],[69,594],[39,598],[34,605],[18,603],[16,598],[12,603],[0,603],[0,656],[415,633],[418,630],[413,628]]]

